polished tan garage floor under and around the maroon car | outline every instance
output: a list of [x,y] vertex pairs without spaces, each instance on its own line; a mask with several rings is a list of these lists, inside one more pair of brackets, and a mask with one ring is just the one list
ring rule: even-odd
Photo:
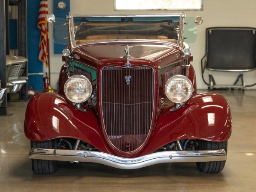
[[[200,90],[202,92],[203,90]],[[207,91],[207,90],[205,90]],[[233,132],[224,170],[198,171],[195,163],[163,163],[120,170],[95,163],[61,162],[58,172],[36,175],[23,133],[27,102],[8,102],[9,117],[0,117],[0,191],[256,191],[256,90],[215,90],[231,106]]]

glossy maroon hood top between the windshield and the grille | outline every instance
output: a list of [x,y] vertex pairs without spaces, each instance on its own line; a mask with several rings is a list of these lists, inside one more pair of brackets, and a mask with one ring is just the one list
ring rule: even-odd
[[129,47],[132,60],[145,60],[157,67],[178,62],[182,59],[182,52],[172,44],[85,44],[76,47],[71,54],[74,61],[89,64],[98,68],[105,61],[124,60],[124,50]]

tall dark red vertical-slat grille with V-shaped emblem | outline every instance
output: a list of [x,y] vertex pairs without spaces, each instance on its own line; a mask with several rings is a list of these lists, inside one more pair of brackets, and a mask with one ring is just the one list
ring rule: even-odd
[[[129,83],[125,76],[131,76]],[[134,151],[148,136],[154,102],[154,73],[148,66],[102,70],[102,112],[110,142]]]

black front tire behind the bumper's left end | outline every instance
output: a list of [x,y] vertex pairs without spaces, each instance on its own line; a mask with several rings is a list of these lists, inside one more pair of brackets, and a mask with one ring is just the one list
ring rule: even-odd
[[[57,148],[57,140],[31,141],[31,148]],[[58,161],[32,159],[32,170],[36,174],[52,174],[58,170]]]

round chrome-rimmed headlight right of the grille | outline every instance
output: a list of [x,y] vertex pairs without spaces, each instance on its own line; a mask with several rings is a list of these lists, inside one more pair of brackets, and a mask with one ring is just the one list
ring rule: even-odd
[[182,75],[176,75],[168,79],[165,85],[165,93],[169,100],[175,103],[183,103],[192,95],[191,81]]

